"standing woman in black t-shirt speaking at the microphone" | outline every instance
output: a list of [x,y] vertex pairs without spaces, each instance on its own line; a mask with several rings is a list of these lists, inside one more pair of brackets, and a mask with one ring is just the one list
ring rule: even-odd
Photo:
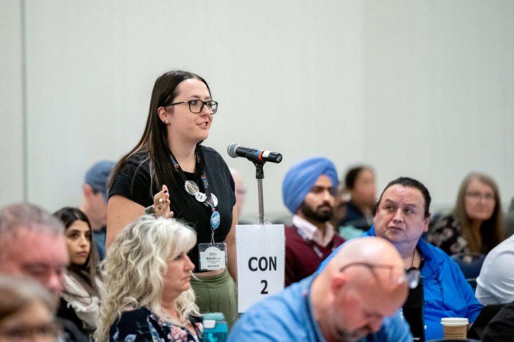
[[[191,285],[200,312],[237,315],[234,180],[227,164],[203,145],[218,103],[207,82],[181,70],[155,81],[143,136],[115,166],[107,208],[108,246],[146,207],[194,227]],[[229,272],[230,271],[230,274]]]

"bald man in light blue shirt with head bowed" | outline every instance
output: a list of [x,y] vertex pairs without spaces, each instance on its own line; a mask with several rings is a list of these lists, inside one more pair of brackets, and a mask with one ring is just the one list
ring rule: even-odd
[[393,316],[407,294],[394,246],[379,237],[356,238],[322,272],[251,307],[229,340],[412,341],[409,326]]

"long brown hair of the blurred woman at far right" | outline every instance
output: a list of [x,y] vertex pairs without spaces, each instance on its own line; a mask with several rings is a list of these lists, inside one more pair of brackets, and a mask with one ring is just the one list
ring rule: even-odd
[[[471,220],[466,214],[466,191],[468,190],[469,183],[473,179],[486,184],[492,189],[494,193],[494,210],[491,217],[488,220],[482,222],[480,226],[480,236],[482,241],[477,241],[475,236],[471,234]],[[453,209],[453,215],[457,218],[461,224],[461,229],[464,237],[468,241],[468,246],[471,252],[475,253],[489,253],[495,246],[503,241],[504,229],[503,229],[503,215],[502,215],[502,203],[500,200],[500,191],[498,185],[494,180],[481,173],[471,173],[462,181],[461,187],[458,190],[457,201],[455,208]]]

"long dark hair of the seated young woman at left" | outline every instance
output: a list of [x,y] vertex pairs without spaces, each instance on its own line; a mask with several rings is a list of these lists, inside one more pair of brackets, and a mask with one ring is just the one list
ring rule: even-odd
[[89,255],[87,256],[86,262],[83,265],[75,265],[70,263],[68,265],[68,273],[71,275],[75,275],[75,278],[82,283],[84,289],[90,294],[94,296],[99,296],[99,289],[95,282],[95,277],[102,279],[102,274],[100,272],[100,258],[98,257],[98,251],[96,248],[95,240],[93,237],[93,230],[91,230],[91,224],[89,223],[89,219],[86,214],[84,214],[78,208],[72,208],[66,206],[61,208],[57,212],[53,213],[53,216],[57,217],[64,224],[66,231],[75,221],[84,221],[87,223],[89,227],[89,243],[90,250]]

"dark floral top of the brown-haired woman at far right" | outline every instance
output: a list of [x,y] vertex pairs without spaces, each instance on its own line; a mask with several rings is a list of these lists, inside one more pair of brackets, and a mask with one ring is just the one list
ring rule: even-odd
[[440,218],[428,233],[427,241],[448,255],[470,252],[461,225],[453,215]]

